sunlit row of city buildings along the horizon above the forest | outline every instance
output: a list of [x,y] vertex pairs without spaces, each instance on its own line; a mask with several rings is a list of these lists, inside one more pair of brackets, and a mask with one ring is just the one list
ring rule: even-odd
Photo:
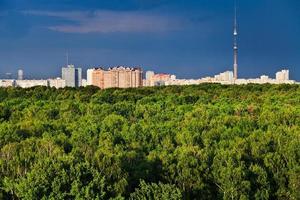
[[300,84],[290,79],[290,71],[282,69],[276,72],[275,78],[263,74],[256,78],[239,78],[233,71],[225,71],[214,76],[206,76],[198,79],[181,79],[175,74],[155,73],[146,71],[143,77],[143,69],[140,67],[114,66],[105,69],[93,67],[87,70],[86,79],[82,76],[82,69],[74,65],[62,67],[61,77],[47,79],[26,79],[23,70],[18,70],[17,79],[0,79],[0,87],[30,88],[46,86],[54,88],[96,86],[100,89],[107,88],[137,88],[170,85],[199,85],[202,83],[218,83],[222,85],[247,85],[247,84]]

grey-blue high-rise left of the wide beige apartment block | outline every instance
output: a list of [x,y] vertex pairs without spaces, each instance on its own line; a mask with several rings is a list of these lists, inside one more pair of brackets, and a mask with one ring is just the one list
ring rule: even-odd
[[81,68],[75,68],[74,65],[63,67],[62,79],[66,81],[66,87],[80,87],[82,80]]

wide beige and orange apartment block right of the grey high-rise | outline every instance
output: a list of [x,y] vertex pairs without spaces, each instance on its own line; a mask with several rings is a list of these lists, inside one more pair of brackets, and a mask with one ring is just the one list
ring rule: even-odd
[[88,70],[89,85],[106,88],[136,88],[143,84],[141,68],[113,67],[108,70],[94,68]]

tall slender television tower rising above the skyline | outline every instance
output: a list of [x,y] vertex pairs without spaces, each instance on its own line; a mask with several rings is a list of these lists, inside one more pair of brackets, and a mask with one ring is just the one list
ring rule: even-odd
[[233,78],[236,80],[238,79],[238,30],[236,0],[234,0],[233,54]]

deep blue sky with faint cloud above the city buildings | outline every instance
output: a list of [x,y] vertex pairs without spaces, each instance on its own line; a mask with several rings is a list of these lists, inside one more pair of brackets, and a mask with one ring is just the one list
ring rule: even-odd
[[[0,76],[70,63],[199,78],[232,70],[233,0],[0,0]],[[300,1],[238,0],[239,75],[300,80]]]

